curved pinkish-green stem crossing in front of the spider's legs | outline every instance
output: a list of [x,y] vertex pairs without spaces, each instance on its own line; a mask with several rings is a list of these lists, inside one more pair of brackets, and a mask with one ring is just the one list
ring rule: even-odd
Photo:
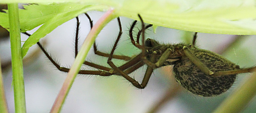
[[94,43],[97,35],[100,33],[100,30],[104,28],[104,26],[110,22],[112,19],[116,18],[116,14],[114,13],[114,9],[108,10],[99,20],[98,22],[92,27],[92,30],[89,32],[88,36],[84,40],[81,50],[78,52],[76,59],[70,68],[68,75],[62,85],[60,92],[52,106],[50,113],[59,113],[66,96],[76,78],[78,71],[84,62],[92,44]]

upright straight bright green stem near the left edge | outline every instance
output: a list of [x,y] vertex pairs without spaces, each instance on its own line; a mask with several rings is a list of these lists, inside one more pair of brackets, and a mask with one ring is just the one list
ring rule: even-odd
[[8,4],[8,15],[10,25],[12,83],[14,87],[15,112],[26,113],[18,3]]

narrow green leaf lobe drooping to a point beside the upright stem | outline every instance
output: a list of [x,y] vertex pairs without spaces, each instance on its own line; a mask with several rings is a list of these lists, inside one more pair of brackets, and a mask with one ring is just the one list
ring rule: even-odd
[[[47,20],[36,32],[34,32],[34,34],[32,34],[22,46],[22,57],[26,55],[26,53],[28,52],[28,49],[34,44],[36,44],[36,42],[38,42],[40,38],[43,38],[44,36],[46,36],[46,34],[52,32],[52,30],[54,30],[64,22],[67,22],[68,20],[84,12],[87,12],[90,10],[99,10],[101,7],[102,6],[80,5],[80,4],[71,4],[71,5],[66,4],[64,6],[56,5],[55,6],[56,9],[54,10],[57,10],[58,12],[54,12],[53,13],[54,16],[49,20]],[[47,12],[53,11],[53,10],[48,10],[47,6],[45,6],[44,8],[45,8],[44,10],[47,10]],[[63,9],[63,10],[59,10],[59,9]],[[49,14],[49,15],[52,15],[52,14]],[[44,15],[44,13],[42,14],[42,16],[46,16],[47,18],[47,15]]]

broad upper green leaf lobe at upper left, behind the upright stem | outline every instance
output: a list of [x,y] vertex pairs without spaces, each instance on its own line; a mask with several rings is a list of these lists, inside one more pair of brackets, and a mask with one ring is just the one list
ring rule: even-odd
[[[65,14],[70,12],[79,12],[86,8],[92,7],[91,5],[82,4],[51,4],[51,5],[24,5],[25,10],[19,10],[21,32],[32,30],[37,26],[46,23],[55,16],[67,16]],[[97,9],[94,9],[97,10]],[[8,13],[8,10],[5,10]],[[78,14],[77,14],[78,15]],[[69,15],[68,15],[69,16]],[[66,18],[66,17],[64,17]],[[0,13],[1,26],[9,29],[8,14]],[[60,18],[61,19],[61,18]],[[57,20],[58,21],[58,20]]]

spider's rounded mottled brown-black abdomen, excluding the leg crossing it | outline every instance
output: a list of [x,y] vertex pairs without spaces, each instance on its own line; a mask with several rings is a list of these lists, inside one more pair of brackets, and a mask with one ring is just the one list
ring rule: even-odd
[[[239,69],[238,65],[213,52],[202,49],[192,51],[213,72]],[[236,75],[224,75],[220,77],[206,75],[186,56],[182,56],[182,59],[175,62],[173,71],[176,81],[182,87],[191,93],[204,97],[226,92],[236,79]]]

